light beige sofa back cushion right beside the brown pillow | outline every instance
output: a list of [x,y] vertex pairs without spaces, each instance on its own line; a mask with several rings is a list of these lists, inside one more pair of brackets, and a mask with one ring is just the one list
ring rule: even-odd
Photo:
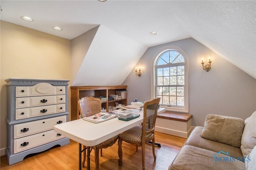
[[241,150],[246,157],[256,145],[256,111],[244,121]]

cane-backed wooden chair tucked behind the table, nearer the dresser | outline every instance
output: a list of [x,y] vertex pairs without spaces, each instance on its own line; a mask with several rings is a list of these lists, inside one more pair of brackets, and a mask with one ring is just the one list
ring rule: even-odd
[[[101,112],[101,100],[100,98],[84,97],[78,101],[78,107],[81,118],[89,117]],[[92,149],[94,149],[96,170],[99,169],[99,150],[101,151],[100,156],[102,156],[102,149],[112,146],[114,143],[116,143],[117,139],[118,135],[92,147]],[[84,160],[82,162],[82,166],[84,167],[86,159],[86,149],[88,148],[86,146],[84,146],[83,148]]]

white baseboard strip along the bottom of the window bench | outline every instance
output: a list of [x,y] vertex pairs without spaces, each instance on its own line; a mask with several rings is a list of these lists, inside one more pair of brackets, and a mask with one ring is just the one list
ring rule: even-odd
[[190,135],[193,129],[194,127],[190,127],[190,129],[187,132],[184,132],[184,131],[178,131],[178,130],[168,129],[164,127],[157,127],[157,126],[155,127],[155,131],[157,132],[162,132],[169,135],[174,135],[174,136],[184,137],[184,138],[188,138],[188,136]]

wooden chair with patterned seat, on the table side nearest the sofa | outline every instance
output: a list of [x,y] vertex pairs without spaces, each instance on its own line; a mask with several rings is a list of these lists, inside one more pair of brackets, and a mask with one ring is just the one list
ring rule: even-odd
[[143,107],[143,123],[142,125],[137,125],[127,131],[124,131],[119,135],[118,139],[118,156],[119,165],[122,164],[122,141],[127,143],[135,144],[136,150],[138,149],[138,145],[142,147],[142,169],[145,170],[145,144],[152,140],[152,150],[154,160],[156,160],[155,154],[155,123],[156,123],[156,115],[158,104],[160,102],[160,98],[156,98],[144,103]]

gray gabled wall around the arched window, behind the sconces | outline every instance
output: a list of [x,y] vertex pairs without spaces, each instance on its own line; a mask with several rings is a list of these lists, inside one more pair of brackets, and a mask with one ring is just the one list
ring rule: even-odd
[[[153,62],[166,46],[182,49],[188,57],[189,114],[192,126],[203,126],[207,114],[226,115],[246,119],[256,110],[256,79],[193,38],[157,45],[146,50],[136,64],[142,76],[135,76],[135,68],[122,85],[128,85],[128,104],[134,98],[140,102],[151,99]],[[239,50],[239,49],[238,49]],[[202,58],[211,57],[209,72],[202,69]]]

